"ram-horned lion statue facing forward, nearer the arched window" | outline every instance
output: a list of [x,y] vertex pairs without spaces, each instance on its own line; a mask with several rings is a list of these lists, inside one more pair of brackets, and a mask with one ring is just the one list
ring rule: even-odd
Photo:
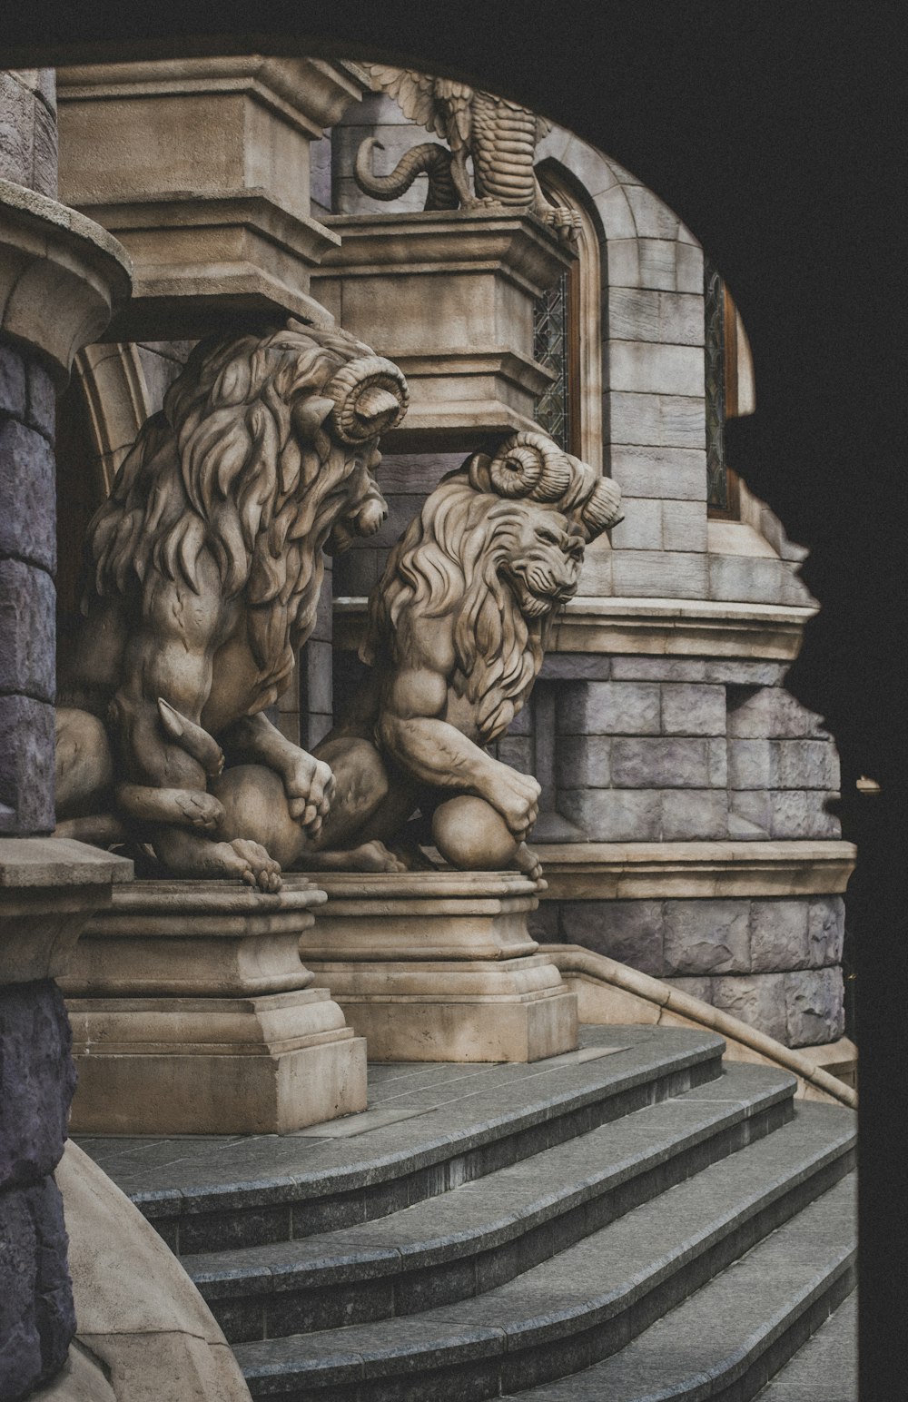
[[[621,519],[619,501],[614,482],[537,432],[450,472],[373,590],[367,680],[315,750],[336,784],[321,830],[300,833],[254,767],[217,782],[228,830],[248,831],[255,813],[284,868],[399,871],[434,840],[455,866],[538,876],[525,837],[539,785],[485,746],[524,705],[584,544]],[[420,836],[408,838],[416,809]]]

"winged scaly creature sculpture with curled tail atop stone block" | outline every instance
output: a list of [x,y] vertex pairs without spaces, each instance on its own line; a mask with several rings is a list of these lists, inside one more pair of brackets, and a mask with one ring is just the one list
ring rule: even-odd
[[[450,150],[425,142],[411,147],[390,175],[376,175],[373,151],[384,147],[376,137],[367,137],[355,163],[356,182],[366,195],[397,199],[418,175],[427,175],[426,209],[532,212],[568,234],[579,229],[576,210],[549,203],[535,175],[537,143],[551,129],[545,118],[453,79],[378,63],[367,69],[374,87],[388,93],[412,122],[444,137]],[[474,188],[468,157],[472,158]]]

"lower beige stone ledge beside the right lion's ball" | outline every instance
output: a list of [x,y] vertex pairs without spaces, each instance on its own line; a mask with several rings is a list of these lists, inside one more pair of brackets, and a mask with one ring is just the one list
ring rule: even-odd
[[548,883],[542,900],[831,896],[856,858],[842,841],[531,844]]

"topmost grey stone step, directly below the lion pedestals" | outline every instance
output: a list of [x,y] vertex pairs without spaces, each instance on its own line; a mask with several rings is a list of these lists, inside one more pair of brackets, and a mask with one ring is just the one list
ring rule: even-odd
[[349,1227],[722,1074],[722,1037],[584,1028],[530,1064],[370,1066],[370,1109],[291,1134],[77,1137],[178,1255]]

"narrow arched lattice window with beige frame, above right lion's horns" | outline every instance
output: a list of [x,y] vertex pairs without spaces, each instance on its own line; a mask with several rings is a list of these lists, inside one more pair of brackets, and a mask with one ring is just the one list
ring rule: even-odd
[[555,373],[535,418],[569,453],[603,468],[601,252],[596,224],[555,163],[537,171],[552,203],[580,216],[577,257],[534,308],[534,355]]

